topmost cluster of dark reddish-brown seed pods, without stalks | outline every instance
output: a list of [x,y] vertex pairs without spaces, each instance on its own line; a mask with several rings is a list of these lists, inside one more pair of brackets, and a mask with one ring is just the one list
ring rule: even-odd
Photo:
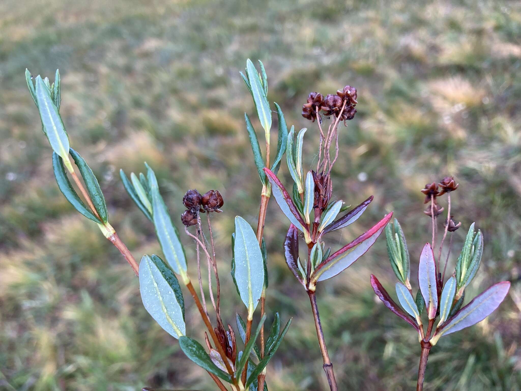
[[[318,92],[311,92],[307,97],[307,103],[302,106],[302,116],[314,122],[317,119],[318,109],[320,121],[320,112],[326,117],[334,115],[337,118],[340,116],[343,121],[350,120],[356,114],[355,105],[358,103],[356,98],[356,88],[351,85],[346,85],[342,90],[338,90],[336,95],[327,94],[325,98]],[[342,106],[344,106],[343,110]]]

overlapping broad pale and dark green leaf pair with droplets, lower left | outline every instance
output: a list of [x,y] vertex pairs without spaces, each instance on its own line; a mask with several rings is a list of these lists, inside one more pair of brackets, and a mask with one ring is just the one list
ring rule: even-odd
[[172,337],[185,334],[184,301],[176,276],[157,255],[143,255],[139,291],[146,311]]

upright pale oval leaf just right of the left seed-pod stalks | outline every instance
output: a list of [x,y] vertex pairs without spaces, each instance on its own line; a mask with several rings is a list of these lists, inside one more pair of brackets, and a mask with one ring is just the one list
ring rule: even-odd
[[252,314],[261,298],[264,286],[264,262],[261,248],[251,225],[235,217],[235,280],[242,302]]

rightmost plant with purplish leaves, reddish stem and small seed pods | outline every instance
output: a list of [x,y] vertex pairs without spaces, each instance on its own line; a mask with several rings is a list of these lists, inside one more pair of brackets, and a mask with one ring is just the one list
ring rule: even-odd
[[[430,216],[432,221],[433,245],[436,243],[437,216],[444,210],[438,204],[437,198],[444,193],[448,193],[448,213],[444,222],[445,228],[437,260],[432,249],[433,245],[431,246],[430,243],[427,242],[421,251],[418,265],[419,289],[416,293],[416,298],[413,296],[413,289],[410,283],[411,269],[407,242],[405,241],[402,227],[396,219],[394,219],[392,225],[390,224],[386,227],[386,237],[391,267],[396,278],[398,278],[398,282],[395,285],[396,296],[402,308],[392,300],[378,279],[371,275],[371,286],[373,286],[380,300],[393,313],[413,326],[418,333],[418,341],[421,346],[416,386],[418,391],[423,389],[430,349],[437,344],[438,340],[444,335],[460,331],[485,319],[499,307],[510,288],[510,282],[508,281],[492,285],[463,307],[465,288],[475,277],[481,263],[481,256],[483,255],[483,235],[479,230],[476,233],[475,223],[472,223],[468,229],[463,249],[457,259],[452,276],[445,281],[452,233],[461,226],[461,223],[456,224],[451,215],[450,194],[457,187],[458,184],[455,183],[453,177],[445,177],[439,184],[433,182],[430,185],[427,184],[425,189],[421,190],[426,196],[425,203],[429,203],[425,214]],[[440,258],[448,233],[451,235],[449,249],[443,272],[440,272]],[[424,310],[427,314],[427,330],[425,330],[424,323],[421,320]],[[439,320],[436,321],[437,319]]]

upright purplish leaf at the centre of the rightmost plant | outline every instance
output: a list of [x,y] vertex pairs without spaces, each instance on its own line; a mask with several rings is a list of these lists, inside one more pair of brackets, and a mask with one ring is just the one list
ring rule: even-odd
[[430,247],[430,243],[426,243],[420,255],[418,266],[418,283],[421,290],[421,296],[425,300],[427,306],[427,315],[429,319],[436,317],[438,310],[438,279],[436,277],[436,261],[434,253]]

